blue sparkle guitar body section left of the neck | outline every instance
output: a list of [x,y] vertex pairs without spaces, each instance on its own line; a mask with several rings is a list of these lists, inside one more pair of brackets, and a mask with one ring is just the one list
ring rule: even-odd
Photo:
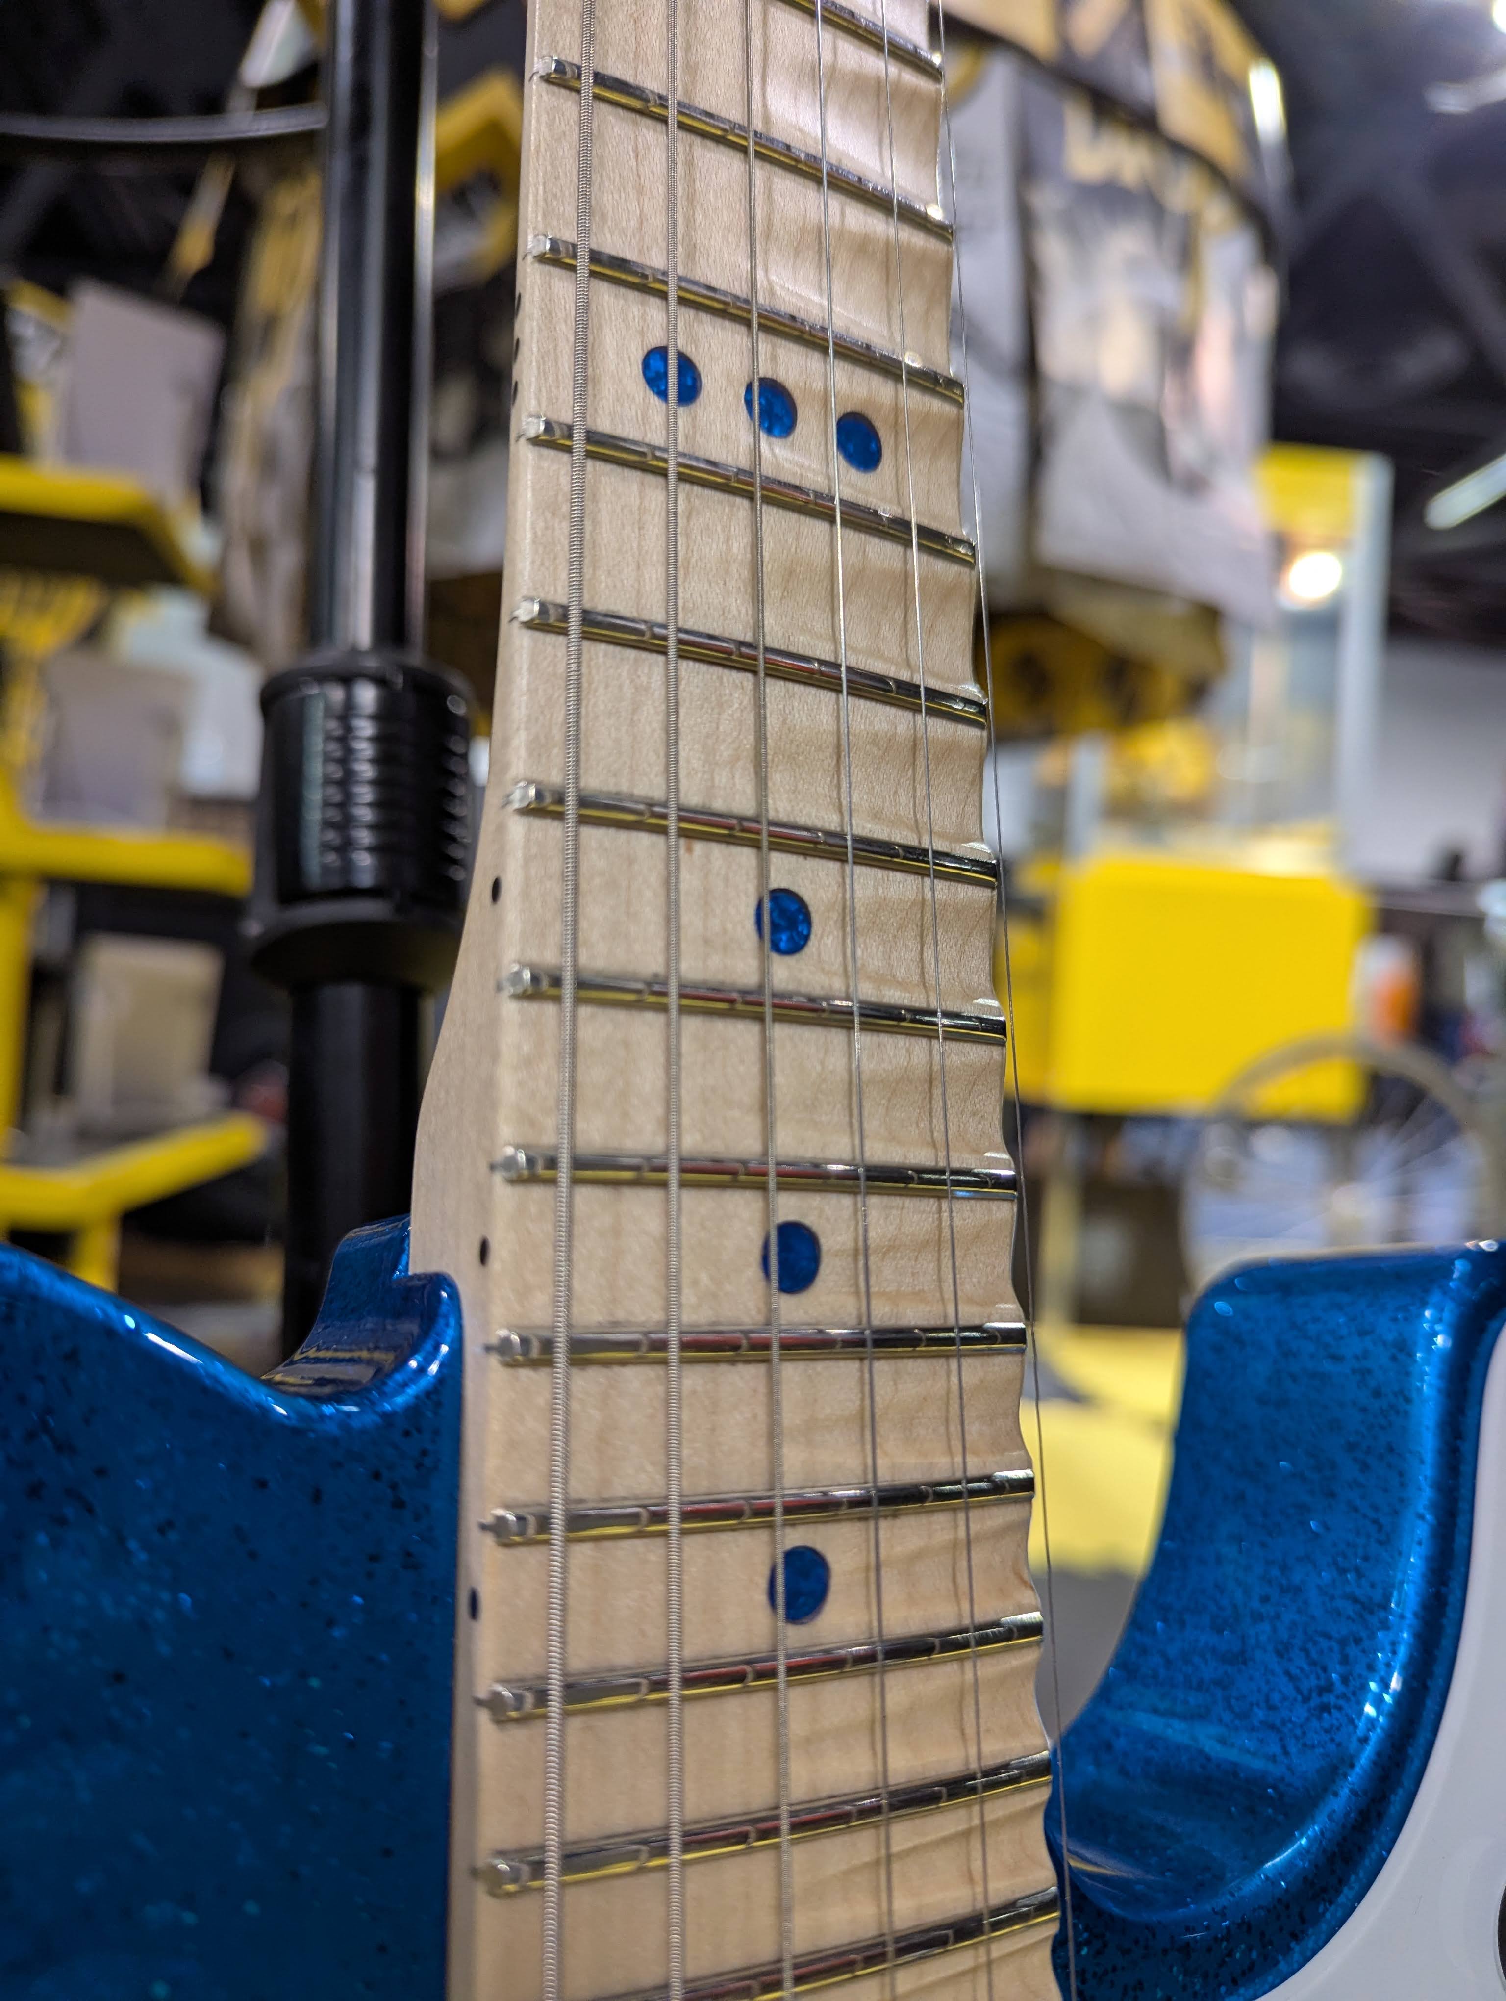
[[460,1305],[266,1383],[0,1247],[0,1995],[442,2001]]

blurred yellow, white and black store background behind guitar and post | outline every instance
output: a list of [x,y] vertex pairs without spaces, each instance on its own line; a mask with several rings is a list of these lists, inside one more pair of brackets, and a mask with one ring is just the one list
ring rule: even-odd
[[[524,12],[438,12],[426,644],[480,788]],[[316,0],[0,28],[0,1229],[254,1371],[288,1019],[240,914],[258,690],[306,636],[320,32]],[[1506,4],[934,32],[1070,1713],[1198,1285],[1506,1221]],[[180,124],[222,112],[218,150]]]

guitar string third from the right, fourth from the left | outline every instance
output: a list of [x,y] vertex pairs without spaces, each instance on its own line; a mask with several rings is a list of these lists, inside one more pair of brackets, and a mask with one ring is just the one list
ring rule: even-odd
[[[866,1403],[868,1403],[868,1471],[874,1489],[872,1517],[872,1565],[874,1565],[874,1625],[878,1639],[878,1759],[882,1807],[882,1857],[884,1857],[884,1951],[888,1961],[886,1985],[894,1993],[894,1827],[888,1811],[890,1757],[888,1757],[888,1671],[884,1667],[884,1523],[878,1511],[880,1459],[878,1459],[878,1407],[874,1399],[874,1283],[868,1237],[868,1135],[862,1097],[862,974],[858,958],[858,862],[856,824],[852,798],[852,702],[848,690],[848,602],[846,564],[842,550],[842,454],[836,434],[836,296],[832,284],[832,188],[830,156],[826,132],[826,10],[824,0],[814,4],[816,18],[816,108],[820,116],[820,198],[822,198],[822,262],[826,276],[826,398],[828,398],[828,438],[832,454],[832,542],[836,550],[836,654],[842,670],[840,740],[842,740],[842,784],[844,784],[844,832],[846,832],[846,890],[848,890],[848,982],[852,994],[852,1039],[850,1079],[852,1079],[852,1123],[854,1153],[858,1165],[858,1285],[862,1297],[864,1361],[866,1361]],[[892,146],[890,128],[890,146]]]

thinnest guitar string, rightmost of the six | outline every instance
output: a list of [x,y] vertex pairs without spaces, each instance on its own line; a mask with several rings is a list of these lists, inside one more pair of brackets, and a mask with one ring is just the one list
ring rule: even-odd
[[[988,630],[988,562],[984,554],[984,534],[982,534],[982,494],[978,488],[978,450],[976,436],[972,428],[972,378],[968,366],[968,312],[966,312],[966,290],[962,278],[962,256],[960,256],[960,230],[958,230],[958,194],[956,194],[956,132],[952,128],[952,92],[946,68],[946,0],[938,0],[936,6],[936,30],[938,30],[938,54],[942,58],[942,122],[946,130],[946,164],[948,164],[948,192],[952,208],[952,228],[954,242],[958,244],[958,254],[954,262],[956,278],[956,300],[958,300],[958,346],[962,350],[962,410],[964,410],[964,438],[966,456],[970,468],[972,486],[972,536],[978,550],[978,618],[982,628],[982,650],[984,650],[984,694],[988,696],[988,766],[990,782],[994,788],[994,838],[1002,828],[1000,810],[1000,778],[998,778],[998,716],[994,714],[994,656],[992,638]],[[1010,1025],[1010,1101],[1014,1111],[1014,1159],[1018,1167],[1018,1187],[1020,1187],[1020,1217],[1016,1223],[1022,1249],[1024,1265],[1024,1301],[1022,1317],[1026,1323],[1026,1341],[1030,1349],[1030,1371],[1032,1371],[1032,1403],[1034,1429],[1036,1429],[1036,1505],[1040,1507],[1040,1539],[1046,1563],[1046,1629],[1050,1639],[1050,1685],[1052,1685],[1052,1719],[1056,1743],[1052,1747],[1056,1761],[1056,1805],[1058,1805],[1058,1825],[1062,1841],[1062,1933],[1066,1937],[1066,1983],[1068,2001],[1078,2001],[1078,1957],[1076,1957],[1076,1935],[1072,1929],[1072,1871],[1068,1867],[1068,1839],[1066,1839],[1066,1755],[1062,1747],[1062,1671],[1056,1651],[1056,1569],[1052,1563],[1052,1537],[1050,1537],[1050,1503],[1048,1491],[1050,1481],[1046,1477],[1046,1431],[1042,1423],[1042,1399],[1040,1399],[1040,1341],[1034,1315],[1034,1275],[1030,1265],[1030,1209],[1024,1185],[1024,1117],[1020,1111],[1020,1043],[1014,1033],[1014,966],[1010,956],[1010,912],[1008,912],[1008,892],[1004,888],[1004,862],[1000,856],[998,874],[998,922],[1000,938],[1004,944],[1004,1013]]]

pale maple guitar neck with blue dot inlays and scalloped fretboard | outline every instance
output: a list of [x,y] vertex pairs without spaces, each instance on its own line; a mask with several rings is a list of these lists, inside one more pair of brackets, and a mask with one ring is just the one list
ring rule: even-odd
[[492,774],[414,1189],[466,1321],[450,1991],[1044,2001],[926,8],[678,0],[674,66],[652,0],[582,26],[530,8]]

